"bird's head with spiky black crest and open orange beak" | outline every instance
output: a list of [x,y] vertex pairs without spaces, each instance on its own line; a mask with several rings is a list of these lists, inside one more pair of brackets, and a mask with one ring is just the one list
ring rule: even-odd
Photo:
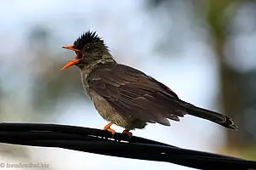
[[73,42],[73,45],[64,46],[62,48],[73,50],[77,56],[75,59],[70,59],[61,71],[72,65],[77,65],[79,68],[82,68],[84,65],[90,65],[90,63],[100,60],[106,55],[111,57],[108,52],[108,47],[105,45],[102,38],[96,35],[95,31],[85,32]]

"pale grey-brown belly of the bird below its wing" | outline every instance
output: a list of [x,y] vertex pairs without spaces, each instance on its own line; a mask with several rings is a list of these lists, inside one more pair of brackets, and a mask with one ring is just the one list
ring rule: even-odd
[[90,96],[90,99],[94,103],[96,110],[107,121],[114,122],[116,125],[124,127],[128,130],[134,128],[143,128],[147,125],[146,122],[143,122],[137,118],[125,116],[124,114],[119,114],[110,104],[108,104],[108,101],[106,99],[104,99],[99,94],[96,94],[94,90],[87,89],[86,93]]

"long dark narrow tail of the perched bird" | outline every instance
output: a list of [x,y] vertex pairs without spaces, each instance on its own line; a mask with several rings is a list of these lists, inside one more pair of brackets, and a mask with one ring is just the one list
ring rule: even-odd
[[180,102],[179,104],[183,105],[183,107],[188,111],[189,115],[201,117],[211,122],[218,123],[223,127],[234,129],[236,131],[238,130],[237,129],[238,127],[235,125],[235,123],[232,121],[231,117],[229,116],[225,116],[215,111],[209,111],[207,109],[203,109],[195,105],[191,105],[184,101]]

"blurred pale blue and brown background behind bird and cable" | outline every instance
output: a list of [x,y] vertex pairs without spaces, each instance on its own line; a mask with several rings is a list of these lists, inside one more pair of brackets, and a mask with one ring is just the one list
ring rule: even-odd
[[[233,117],[239,132],[185,116],[134,135],[178,147],[256,160],[256,2],[253,0],[10,0],[0,6],[0,121],[102,128],[79,70],[60,71],[61,48],[97,31],[114,58],[178,96]],[[118,132],[122,129],[114,127]],[[48,169],[189,169],[72,150],[0,144],[0,160]],[[38,169],[38,168],[37,168]]]

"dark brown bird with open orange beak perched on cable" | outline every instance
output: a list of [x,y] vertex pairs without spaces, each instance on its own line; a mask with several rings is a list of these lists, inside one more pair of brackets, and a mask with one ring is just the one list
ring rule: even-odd
[[143,129],[148,123],[170,126],[185,115],[197,116],[226,128],[237,130],[230,116],[210,111],[180,99],[171,88],[131,66],[119,64],[96,31],[86,31],[72,45],[74,51],[61,71],[76,65],[83,88],[96,111],[109,123],[103,127],[112,135],[113,124],[124,127],[123,133]]

